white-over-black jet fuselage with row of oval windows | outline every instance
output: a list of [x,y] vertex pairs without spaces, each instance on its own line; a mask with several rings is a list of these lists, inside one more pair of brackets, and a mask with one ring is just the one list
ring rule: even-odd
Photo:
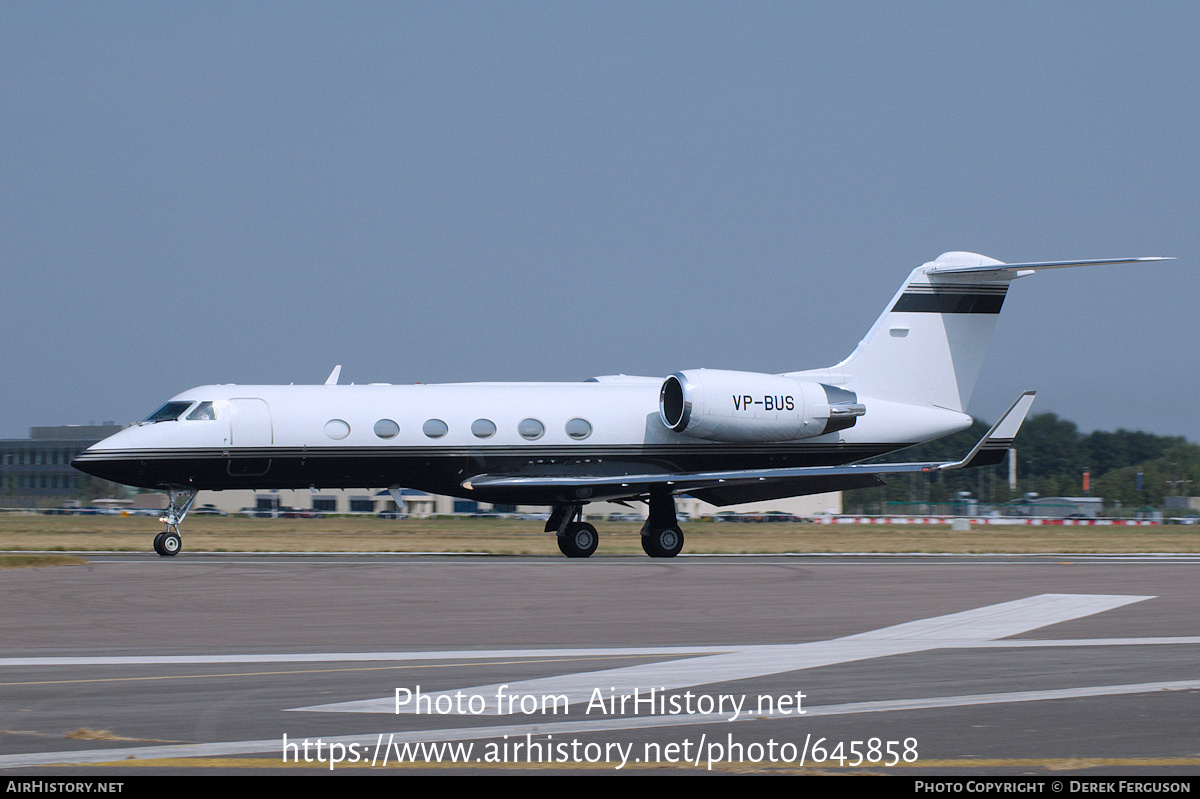
[[[858,423],[803,440],[697,439],[660,419],[662,379],[433,385],[211,385],[82,453],[90,474],[145,488],[403,486],[484,501],[577,501],[559,488],[467,488],[473,475],[676,474],[834,465],[967,427],[965,414],[872,401]],[[745,397],[750,396],[750,402]],[[769,396],[769,395],[768,395]],[[739,414],[786,401],[730,394]],[[204,403],[211,410],[198,413]],[[764,410],[764,407],[766,410]],[[190,419],[188,416],[200,416]]]

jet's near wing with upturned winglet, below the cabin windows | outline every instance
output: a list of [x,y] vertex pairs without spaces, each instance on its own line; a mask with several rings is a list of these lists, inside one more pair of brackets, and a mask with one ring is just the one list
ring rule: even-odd
[[[625,475],[476,475],[463,481],[467,489],[475,488],[542,488],[562,489],[581,501],[629,499],[652,491],[666,489],[672,494],[690,493],[714,505],[728,505],[750,499],[773,499],[805,493],[840,491],[877,485],[880,475],[913,471],[944,471],[992,465],[1004,459],[1025,416],[1033,404],[1036,392],[1026,391],[959,461],[928,461],[919,463],[848,463],[830,467],[787,467],[781,469],[739,469],[727,471],[694,471],[679,474]],[[704,495],[707,494],[707,497]],[[749,498],[749,499],[748,499]],[[720,500],[720,501],[716,501]]]

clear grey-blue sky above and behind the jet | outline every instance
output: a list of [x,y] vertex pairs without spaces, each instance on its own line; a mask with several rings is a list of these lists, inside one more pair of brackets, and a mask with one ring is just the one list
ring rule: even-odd
[[1200,5],[0,5],[0,437],[205,383],[781,372],[913,266],[971,405],[1200,440]]

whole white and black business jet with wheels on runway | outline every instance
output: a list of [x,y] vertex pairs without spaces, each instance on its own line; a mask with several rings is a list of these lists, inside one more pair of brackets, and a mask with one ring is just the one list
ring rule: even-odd
[[1009,283],[1043,269],[1160,258],[1004,264],[949,252],[918,266],[836,366],[782,374],[686,370],[582,383],[206,385],[89,447],[88,474],[167,489],[155,551],[173,555],[199,489],[420,488],[551,505],[568,557],[595,552],[583,506],[643,500],[642,548],[680,552],[674,495],[714,505],[877,485],[887,474],[998,463],[1025,392],[960,461],[862,463],[965,429]]

